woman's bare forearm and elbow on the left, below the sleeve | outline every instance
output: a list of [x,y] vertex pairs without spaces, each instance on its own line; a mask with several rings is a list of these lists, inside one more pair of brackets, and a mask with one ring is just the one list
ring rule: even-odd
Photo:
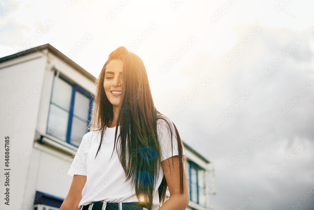
[[70,190],[64,199],[60,210],[79,210],[78,204],[82,199],[82,190],[86,183],[86,176],[74,175]]

